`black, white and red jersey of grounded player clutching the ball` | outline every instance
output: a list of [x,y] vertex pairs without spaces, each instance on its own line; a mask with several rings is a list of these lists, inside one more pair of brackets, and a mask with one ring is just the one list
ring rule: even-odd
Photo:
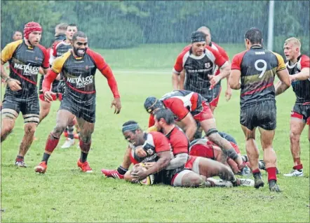
[[137,157],[135,149],[131,148],[131,157],[139,163],[157,161],[159,152],[170,152],[170,145],[166,136],[157,131],[152,131],[149,134],[144,134],[145,142],[142,145],[143,150],[147,153],[147,157]]

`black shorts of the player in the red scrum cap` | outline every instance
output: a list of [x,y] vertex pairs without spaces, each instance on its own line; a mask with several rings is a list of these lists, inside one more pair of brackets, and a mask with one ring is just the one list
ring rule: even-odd
[[16,113],[22,113],[22,115],[39,115],[39,96],[35,91],[30,96],[15,96],[13,94],[4,94],[4,101],[2,103],[2,109],[12,109]]

